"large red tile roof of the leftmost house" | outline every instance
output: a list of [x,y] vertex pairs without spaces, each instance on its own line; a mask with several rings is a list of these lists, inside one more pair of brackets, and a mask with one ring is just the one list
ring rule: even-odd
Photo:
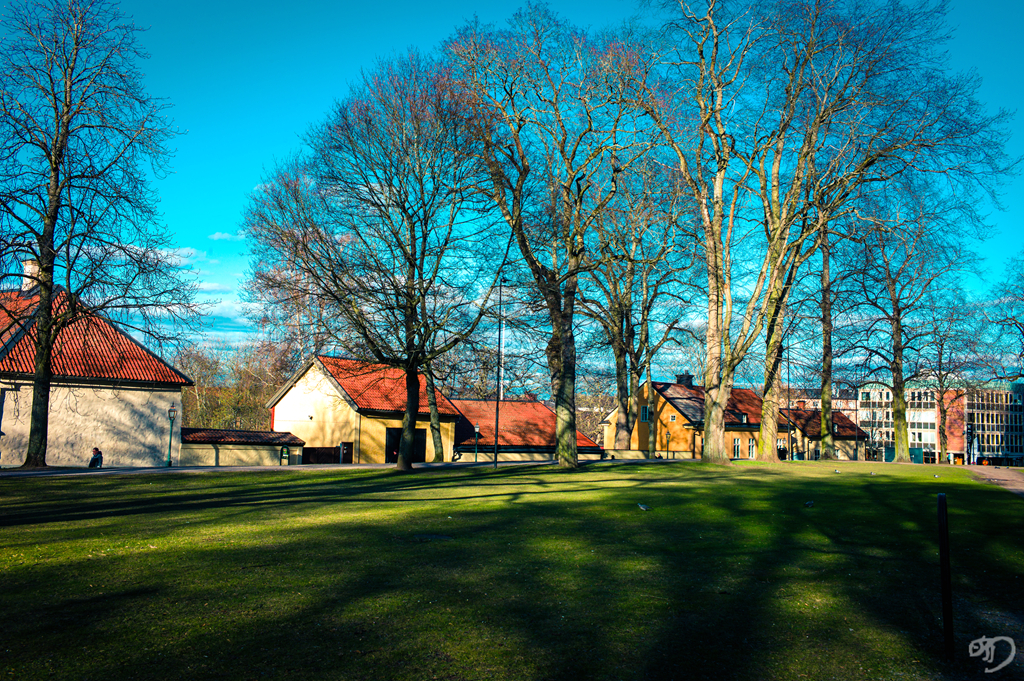
[[[67,295],[62,290],[57,292],[55,310],[67,306]],[[0,349],[0,374],[33,374],[36,329],[30,315],[38,304],[38,295],[0,292],[0,340],[4,343]],[[60,331],[53,344],[51,364],[55,379],[191,385],[184,374],[111,322],[91,312]]]

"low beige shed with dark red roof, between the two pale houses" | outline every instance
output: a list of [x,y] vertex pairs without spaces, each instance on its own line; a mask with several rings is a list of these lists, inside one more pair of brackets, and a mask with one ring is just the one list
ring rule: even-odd
[[181,429],[181,466],[289,466],[302,463],[301,438],[269,430]]

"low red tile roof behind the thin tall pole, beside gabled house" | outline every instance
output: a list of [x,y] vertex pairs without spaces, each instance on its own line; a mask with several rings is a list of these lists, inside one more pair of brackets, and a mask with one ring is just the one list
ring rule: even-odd
[[[473,445],[480,424],[480,446],[495,446],[495,400],[453,399],[465,419],[456,424],[456,445]],[[539,401],[502,400],[498,446],[555,446],[555,413]],[[599,446],[577,431],[577,446]]]

